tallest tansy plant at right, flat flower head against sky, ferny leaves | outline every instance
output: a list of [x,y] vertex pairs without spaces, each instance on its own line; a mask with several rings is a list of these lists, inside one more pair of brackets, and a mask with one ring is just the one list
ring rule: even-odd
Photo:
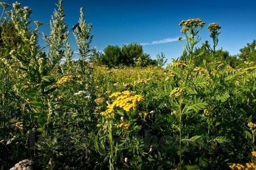
[[[200,135],[189,137],[187,134],[184,137],[185,122],[192,117],[200,117],[200,112],[208,106],[208,102],[203,99],[200,94],[203,92],[207,85],[207,80],[200,74],[194,74],[194,70],[198,70],[195,65],[196,57],[201,54],[195,55],[195,45],[199,43],[201,37],[200,34],[203,30],[205,22],[201,19],[188,19],[180,22],[181,33],[185,35],[185,47],[184,61],[177,60],[168,66],[168,69],[174,74],[175,79],[170,79],[170,90],[168,95],[170,97],[172,116],[176,117],[176,124],[172,123],[172,126],[179,133],[179,147],[177,148],[177,154],[179,155],[179,169],[184,169],[183,156],[188,151],[188,144],[197,146],[200,139]],[[215,29],[214,29],[215,30]],[[179,37],[181,41],[182,38]],[[167,92],[166,88],[166,92]],[[175,120],[175,119],[174,119]],[[225,141],[225,139],[218,139],[219,141]],[[187,167],[188,168],[188,167]]]

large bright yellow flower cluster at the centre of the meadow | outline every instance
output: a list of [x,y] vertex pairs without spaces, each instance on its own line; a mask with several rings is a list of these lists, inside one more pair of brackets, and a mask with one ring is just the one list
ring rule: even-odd
[[131,108],[134,111],[137,109],[137,101],[142,101],[142,95],[135,95],[133,91],[115,92],[110,95],[109,98],[113,99],[113,103],[108,105],[108,109],[105,112],[101,112],[102,116],[112,117],[114,116],[114,108],[121,108],[126,112],[129,112]]

